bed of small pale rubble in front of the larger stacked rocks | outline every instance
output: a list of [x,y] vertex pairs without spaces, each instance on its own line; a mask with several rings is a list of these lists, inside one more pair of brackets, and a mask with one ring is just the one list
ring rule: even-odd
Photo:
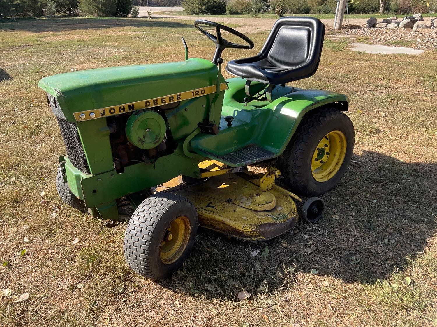
[[[416,23],[417,24],[417,23]],[[346,30],[345,34],[369,37],[375,44],[388,43],[412,46],[416,49],[437,48],[437,30],[410,30],[407,28],[387,29],[385,27],[364,27]]]

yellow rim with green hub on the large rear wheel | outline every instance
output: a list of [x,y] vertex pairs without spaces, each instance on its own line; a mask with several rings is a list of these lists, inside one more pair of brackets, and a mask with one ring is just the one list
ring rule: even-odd
[[320,140],[312,155],[312,177],[318,182],[329,181],[337,174],[346,156],[346,136],[333,130]]

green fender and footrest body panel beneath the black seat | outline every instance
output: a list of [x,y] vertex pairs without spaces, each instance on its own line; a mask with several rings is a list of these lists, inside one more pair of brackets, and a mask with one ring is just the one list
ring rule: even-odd
[[[231,78],[227,82],[229,89],[225,91],[220,132],[217,136],[199,134],[191,140],[192,149],[201,155],[212,153],[213,156],[222,156],[257,145],[272,152],[272,157],[277,157],[284,151],[305,113],[329,104],[347,110],[349,103],[343,94],[277,85],[272,92],[272,102],[254,100],[245,106],[246,81]],[[259,91],[265,86],[255,82],[250,89]],[[227,126],[223,118],[228,115],[234,117],[232,126]],[[238,166],[231,162],[224,163]]]

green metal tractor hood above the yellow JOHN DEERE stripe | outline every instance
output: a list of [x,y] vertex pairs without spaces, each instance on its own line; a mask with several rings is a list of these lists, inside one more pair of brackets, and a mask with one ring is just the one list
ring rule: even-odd
[[76,122],[73,112],[215,85],[217,73],[218,68],[211,61],[190,58],[180,62],[68,72],[42,78],[38,86],[56,98],[68,121]]

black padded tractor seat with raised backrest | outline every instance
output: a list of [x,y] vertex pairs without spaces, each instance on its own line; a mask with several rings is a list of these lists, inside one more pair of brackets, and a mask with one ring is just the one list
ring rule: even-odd
[[232,75],[271,85],[308,78],[317,71],[325,25],[312,17],[283,17],[254,57],[229,61]]

